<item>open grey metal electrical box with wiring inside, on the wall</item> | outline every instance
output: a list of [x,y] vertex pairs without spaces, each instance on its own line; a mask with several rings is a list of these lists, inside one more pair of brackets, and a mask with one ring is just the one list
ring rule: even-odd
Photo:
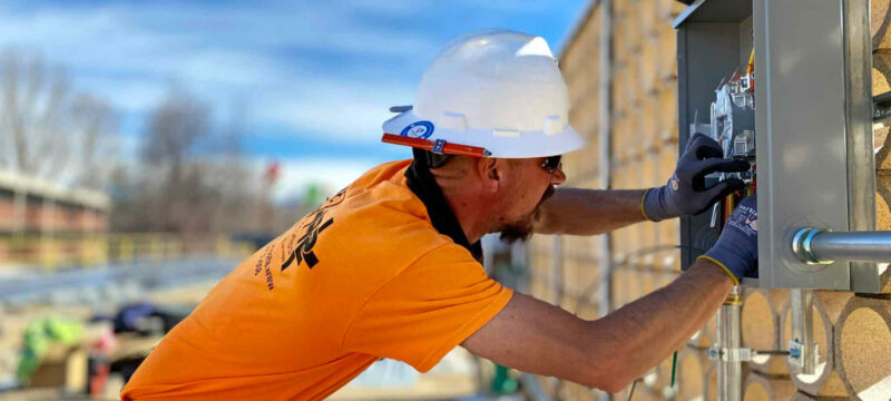
[[745,190],[682,218],[684,267],[757,193],[758,277],[743,284],[879,292],[877,263],[809,260],[793,247],[875,226],[869,2],[698,0],[675,28],[679,151],[702,133],[753,167],[734,174]]

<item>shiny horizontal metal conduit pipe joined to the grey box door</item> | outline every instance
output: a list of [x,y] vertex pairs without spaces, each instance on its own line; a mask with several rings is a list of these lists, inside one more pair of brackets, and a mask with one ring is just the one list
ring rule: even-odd
[[891,262],[891,232],[830,232],[806,227],[792,238],[792,252],[809,264],[838,261]]

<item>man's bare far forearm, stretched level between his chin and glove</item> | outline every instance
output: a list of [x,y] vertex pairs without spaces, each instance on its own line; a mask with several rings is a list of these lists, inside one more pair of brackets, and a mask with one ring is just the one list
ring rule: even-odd
[[558,188],[541,205],[535,232],[595,235],[643,222],[644,193],[645,189]]

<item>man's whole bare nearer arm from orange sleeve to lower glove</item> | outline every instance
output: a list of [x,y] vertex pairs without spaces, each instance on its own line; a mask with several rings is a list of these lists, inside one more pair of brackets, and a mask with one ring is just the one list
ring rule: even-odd
[[618,392],[679,349],[732,286],[718,265],[697,261],[668,286],[595,321],[517,293],[461,345],[525,372]]

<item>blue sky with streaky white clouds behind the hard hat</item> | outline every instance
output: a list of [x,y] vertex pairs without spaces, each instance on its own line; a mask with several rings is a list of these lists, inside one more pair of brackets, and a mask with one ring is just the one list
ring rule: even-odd
[[282,163],[282,197],[407,157],[379,141],[381,123],[390,106],[412,102],[448,40],[508,28],[558,51],[587,2],[4,0],[0,47],[39,50],[70,70],[76,89],[105,97],[125,156],[172,82],[209,102],[221,124],[241,105],[252,160]]

